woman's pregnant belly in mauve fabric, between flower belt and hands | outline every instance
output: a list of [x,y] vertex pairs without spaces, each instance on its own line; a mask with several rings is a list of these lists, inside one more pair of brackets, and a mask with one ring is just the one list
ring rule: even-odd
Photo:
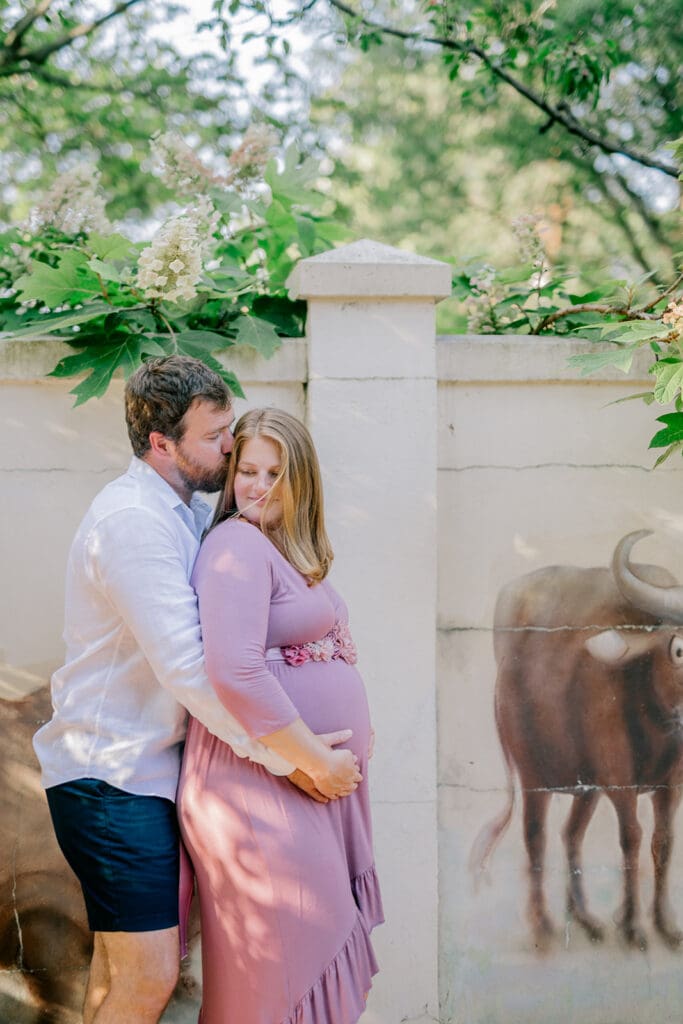
[[334,662],[306,662],[291,666],[268,663],[301,718],[313,732],[352,729],[347,746],[359,758],[368,753],[370,712],[366,688],[351,665]]

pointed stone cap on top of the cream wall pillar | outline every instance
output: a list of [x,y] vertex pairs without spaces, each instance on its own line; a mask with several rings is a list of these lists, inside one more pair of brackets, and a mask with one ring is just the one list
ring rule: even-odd
[[287,281],[293,299],[430,298],[451,295],[447,263],[360,239],[300,260]]

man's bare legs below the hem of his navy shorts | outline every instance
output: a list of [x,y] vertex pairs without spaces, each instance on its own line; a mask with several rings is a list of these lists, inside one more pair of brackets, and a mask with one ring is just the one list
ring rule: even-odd
[[96,932],[84,1024],[157,1024],[178,971],[177,928]]

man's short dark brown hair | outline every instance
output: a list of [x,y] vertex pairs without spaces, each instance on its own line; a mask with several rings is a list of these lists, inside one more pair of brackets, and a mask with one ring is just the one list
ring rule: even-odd
[[138,367],[126,383],[126,426],[133,453],[150,451],[153,430],[182,440],[183,417],[194,401],[209,401],[218,409],[230,404],[225,382],[201,359],[168,355]]

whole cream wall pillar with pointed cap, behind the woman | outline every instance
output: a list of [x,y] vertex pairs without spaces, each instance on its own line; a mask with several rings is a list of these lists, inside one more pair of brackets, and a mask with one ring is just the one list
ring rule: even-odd
[[[387,924],[364,1024],[438,1016],[436,368],[445,263],[361,241],[302,260],[307,418],[333,580],[346,599],[377,750],[372,791]],[[334,471],[332,470],[334,467]]]

